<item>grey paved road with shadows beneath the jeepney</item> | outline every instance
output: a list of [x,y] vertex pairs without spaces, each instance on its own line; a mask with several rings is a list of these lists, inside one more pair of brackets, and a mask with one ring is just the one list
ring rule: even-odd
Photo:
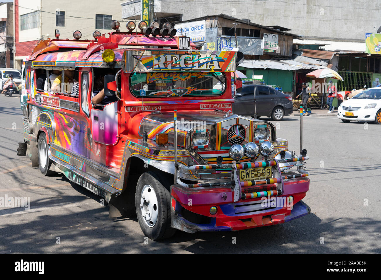
[[[178,232],[146,244],[136,218],[109,219],[100,197],[62,175],[44,177],[16,155],[21,116],[19,98],[0,95],[0,197],[31,200],[30,210],[0,208],[0,253],[381,253],[381,125],[304,118],[311,157],[304,202],[311,214],[240,232]],[[279,122],[277,133],[299,149],[299,117]]]

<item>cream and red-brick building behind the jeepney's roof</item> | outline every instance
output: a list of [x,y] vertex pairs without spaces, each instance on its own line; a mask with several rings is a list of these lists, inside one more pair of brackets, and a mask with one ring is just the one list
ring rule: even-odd
[[16,69],[21,69],[22,59],[32,53],[40,39],[54,38],[55,29],[61,32],[60,38],[72,38],[73,32],[80,30],[82,38],[91,40],[95,30],[112,31],[112,19],[123,20],[117,0],[14,0],[14,5]]

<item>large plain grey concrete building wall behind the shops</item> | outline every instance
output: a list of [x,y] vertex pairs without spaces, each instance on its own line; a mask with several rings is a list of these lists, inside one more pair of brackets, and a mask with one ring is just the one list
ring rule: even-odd
[[[142,10],[141,0],[127,0],[121,5],[123,18]],[[284,26],[304,38],[347,42],[363,42],[365,32],[375,32],[381,25],[380,2],[374,0],[151,0],[150,9],[154,9],[155,18],[170,21],[223,13],[264,26]]]

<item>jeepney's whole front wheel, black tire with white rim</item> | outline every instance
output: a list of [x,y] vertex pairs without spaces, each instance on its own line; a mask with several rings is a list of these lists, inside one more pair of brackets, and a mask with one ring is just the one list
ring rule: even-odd
[[143,233],[152,240],[169,238],[176,232],[171,227],[171,196],[166,189],[170,185],[165,176],[152,171],[143,173],[136,185],[136,216]]

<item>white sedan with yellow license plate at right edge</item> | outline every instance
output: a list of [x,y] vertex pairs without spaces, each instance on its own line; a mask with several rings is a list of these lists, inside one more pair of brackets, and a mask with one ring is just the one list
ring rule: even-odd
[[381,124],[381,88],[368,88],[342,102],[337,117],[345,123],[351,120]]

